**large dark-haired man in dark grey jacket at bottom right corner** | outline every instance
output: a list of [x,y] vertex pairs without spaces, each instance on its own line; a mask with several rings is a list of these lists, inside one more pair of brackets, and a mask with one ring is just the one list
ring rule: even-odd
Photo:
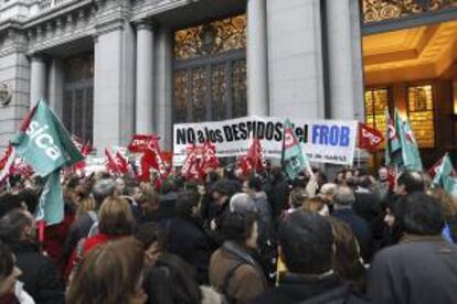
[[396,220],[404,237],[374,257],[368,280],[371,301],[456,303],[457,246],[440,236],[444,214],[439,203],[421,192],[402,197]]

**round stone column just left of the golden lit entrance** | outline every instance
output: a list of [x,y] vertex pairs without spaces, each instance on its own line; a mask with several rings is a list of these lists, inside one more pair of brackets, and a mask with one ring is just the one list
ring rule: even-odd
[[331,117],[364,119],[359,1],[327,0]]

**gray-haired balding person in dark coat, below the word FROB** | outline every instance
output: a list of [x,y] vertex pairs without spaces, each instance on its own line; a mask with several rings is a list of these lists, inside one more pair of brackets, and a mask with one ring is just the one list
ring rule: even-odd
[[365,262],[369,262],[372,256],[372,235],[366,220],[353,210],[354,202],[355,195],[352,188],[348,186],[338,186],[334,194],[332,216],[346,221],[351,227],[352,232],[354,232],[355,238],[359,241],[360,256]]

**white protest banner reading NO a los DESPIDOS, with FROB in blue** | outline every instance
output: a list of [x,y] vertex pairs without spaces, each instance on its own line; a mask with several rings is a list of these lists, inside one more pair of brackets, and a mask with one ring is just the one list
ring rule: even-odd
[[[357,121],[295,119],[294,132],[310,162],[352,165]],[[283,118],[244,117],[224,121],[173,126],[173,165],[181,166],[191,144],[211,141],[217,158],[245,155],[252,138],[262,143],[263,156],[280,159]]]

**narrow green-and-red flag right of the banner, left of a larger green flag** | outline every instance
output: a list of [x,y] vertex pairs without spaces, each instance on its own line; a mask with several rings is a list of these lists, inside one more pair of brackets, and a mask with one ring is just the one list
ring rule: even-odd
[[397,111],[395,109],[395,120],[392,120],[389,110],[385,110],[385,118],[387,120],[387,130],[385,138],[385,164],[386,165],[396,165],[402,164],[402,145],[400,143],[398,132],[397,132]]

